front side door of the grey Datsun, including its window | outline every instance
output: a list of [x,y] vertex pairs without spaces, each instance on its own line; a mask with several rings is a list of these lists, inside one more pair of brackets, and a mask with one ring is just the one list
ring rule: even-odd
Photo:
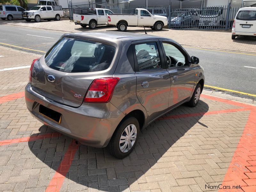
[[195,85],[195,71],[190,67],[187,52],[177,43],[170,40],[160,40],[166,69],[171,78],[169,106],[174,107],[192,96]]

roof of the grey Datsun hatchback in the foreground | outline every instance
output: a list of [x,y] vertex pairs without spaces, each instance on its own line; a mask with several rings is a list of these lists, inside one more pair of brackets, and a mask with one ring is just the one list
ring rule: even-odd
[[78,37],[94,37],[94,38],[110,38],[110,39],[129,39],[129,40],[143,40],[143,39],[161,39],[163,37],[150,36],[145,34],[136,34],[128,32],[79,32],[79,33],[68,33],[64,36],[78,36]]

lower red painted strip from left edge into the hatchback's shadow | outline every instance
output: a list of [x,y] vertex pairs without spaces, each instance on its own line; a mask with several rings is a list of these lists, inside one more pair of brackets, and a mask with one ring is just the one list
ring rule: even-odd
[[37,136],[30,136],[30,137],[22,137],[22,138],[17,138],[17,139],[3,140],[3,141],[0,141],[0,146],[1,145],[10,145],[12,143],[28,142],[28,141],[41,140],[41,139],[45,139],[45,138],[59,137],[59,136],[60,136],[60,133],[58,133],[58,132],[44,133],[44,134],[40,134],[40,135],[37,135]]

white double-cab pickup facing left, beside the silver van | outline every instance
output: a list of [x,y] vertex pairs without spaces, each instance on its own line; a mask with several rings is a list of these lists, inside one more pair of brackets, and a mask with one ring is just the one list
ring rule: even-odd
[[40,22],[41,19],[44,20],[60,20],[63,17],[63,10],[61,6],[35,6],[29,11],[24,11],[22,16],[26,21],[31,21],[32,19],[36,22]]

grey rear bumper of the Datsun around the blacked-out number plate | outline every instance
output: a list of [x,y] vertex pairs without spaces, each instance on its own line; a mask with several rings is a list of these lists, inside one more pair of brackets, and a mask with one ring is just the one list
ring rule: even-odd
[[[45,98],[31,89],[28,83],[25,88],[27,108],[32,116],[54,130],[68,135],[84,145],[102,148],[108,145],[117,125],[124,114],[109,103],[83,103],[74,108]],[[39,113],[39,106],[59,112],[60,124]]]

